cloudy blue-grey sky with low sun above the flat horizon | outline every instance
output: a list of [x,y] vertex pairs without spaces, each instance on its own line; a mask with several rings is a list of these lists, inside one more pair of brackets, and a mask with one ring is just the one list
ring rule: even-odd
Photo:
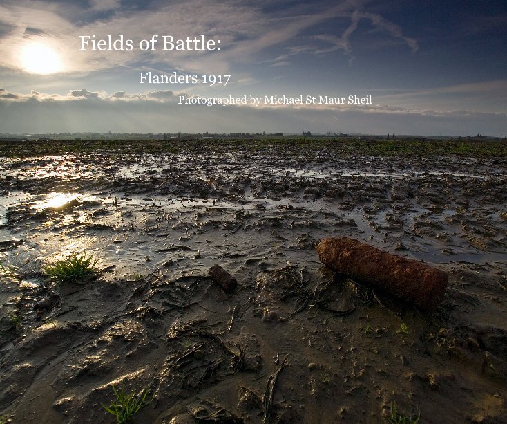
[[[133,47],[93,51],[82,45],[93,35]],[[200,35],[220,50],[164,51],[164,36]],[[506,47],[506,1],[2,0],[0,133],[503,137]],[[150,72],[190,82],[142,83]],[[211,86],[203,75],[230,77]],[[316,100],[269,100],[284,95]],[[179,104],[229,96],[261,101]]]

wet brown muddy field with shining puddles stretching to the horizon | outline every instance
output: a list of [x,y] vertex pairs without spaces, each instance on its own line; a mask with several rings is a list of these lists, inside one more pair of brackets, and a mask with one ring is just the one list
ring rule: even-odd
[[[113,423],[114,386],[149,390],[136,423],[505,423],[505,143],[433,145],[3,147],[0,422]],[[443,303],[334,275],[323,237],[445,271]],[[41,272],[74,252],[96,278]]]

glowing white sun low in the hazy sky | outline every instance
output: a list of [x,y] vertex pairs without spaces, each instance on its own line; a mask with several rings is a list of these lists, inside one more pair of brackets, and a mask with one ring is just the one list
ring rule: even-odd
[[63,71],[64,64],[61,57],[47,44],[30,42],[21,48],[20,62],[23,71],[49,75]]

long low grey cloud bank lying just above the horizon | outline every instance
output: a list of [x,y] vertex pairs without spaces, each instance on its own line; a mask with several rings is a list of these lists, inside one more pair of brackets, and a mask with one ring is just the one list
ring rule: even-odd
[[506,113],[437,111],[388,105],[250,107],[180,105],[178,93],[71,90],[67,95],[0,95],[3,133],[46,132],[298,132],[504,136]]

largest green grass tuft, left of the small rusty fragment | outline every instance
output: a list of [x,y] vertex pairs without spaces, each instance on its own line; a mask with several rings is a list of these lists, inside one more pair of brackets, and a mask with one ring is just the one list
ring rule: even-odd
[[86,253],[73,253],[66,259],[61,259],[55,264],[48,265],[43,271],[48,277],[55,279],[57,282],[70,283],[78,279],[97,274],[98,259],[94,259],[93,255]]

